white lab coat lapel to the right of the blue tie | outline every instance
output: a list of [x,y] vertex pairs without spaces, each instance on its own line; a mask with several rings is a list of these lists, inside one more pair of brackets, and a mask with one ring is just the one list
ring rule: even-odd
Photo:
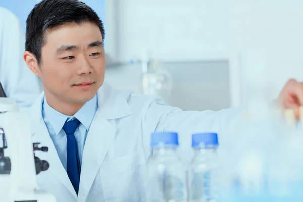
[[133,113],[126,97],[106,83],[99,89],[97,97],[99,108],[87,134],[83,151],[78,202],[86,200],[108,149],[114,142],[117,126],[110,120]]

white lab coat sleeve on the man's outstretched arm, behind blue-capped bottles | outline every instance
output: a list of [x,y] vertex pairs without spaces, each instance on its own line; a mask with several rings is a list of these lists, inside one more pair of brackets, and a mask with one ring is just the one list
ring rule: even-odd
[[[228,146],[233,140],[230,134],[236,133],[241,124],[244,108],[230,108],[221,111],[182,111],[167,106],[161,98],[150,100],[143,121],[146,129],[143,137],[145,151],[150,149],[150,133],[154,131],[178,132],[180,147],[191,150],[191,135],[199,132],[218,133],[221,147]],[[184,154],[184,153],[183,153]]]

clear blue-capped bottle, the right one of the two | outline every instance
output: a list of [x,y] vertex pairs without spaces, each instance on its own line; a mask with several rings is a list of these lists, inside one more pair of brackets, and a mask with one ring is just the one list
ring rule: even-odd
[[189,166],[189,200],[209,202],[217,199],[217,133],[192,135],[194,157]]

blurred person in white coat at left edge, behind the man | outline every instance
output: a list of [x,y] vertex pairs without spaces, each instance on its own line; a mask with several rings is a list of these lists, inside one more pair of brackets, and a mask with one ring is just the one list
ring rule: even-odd
[[38,77],[22,60],[25,36],[18,18],[0,7],[0,83],[20,109],[30,107],[41,93]]

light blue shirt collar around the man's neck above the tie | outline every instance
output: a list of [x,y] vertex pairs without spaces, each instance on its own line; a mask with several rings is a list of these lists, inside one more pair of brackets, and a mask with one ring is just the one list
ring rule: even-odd
[[53,126],[56,135],[59,134],[64,123],[67,120],[71,121],[75,118],[78,119],[81,122],[81,124],[84,125],[86,130],[88,131],[90,128],[91,122],[93,120],[93,117],[98,108],[97,95],[95,95],[91,100],[86,102],[82,106],[82,108],[78,112],[76,112],[76,114],[74,114],[73,116],[67,116],[67,115],[64,115],[64,114],[56,111],[54,108],[49,106],[48,103],[45,101],[46,101],[46,99],[44,97],[44,102],[43,102],[44,112],[45,112],[45,115],[46,115],[49,123],[51,123],[51,125]]

